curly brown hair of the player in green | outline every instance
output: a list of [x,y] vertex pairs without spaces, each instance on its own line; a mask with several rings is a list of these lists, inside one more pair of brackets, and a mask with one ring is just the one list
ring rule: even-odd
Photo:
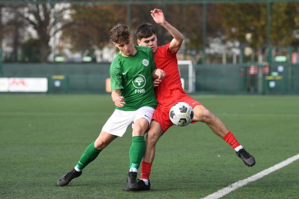
[[115,43],[129,43],[130,42],[130,28],[127,25],[117,24],[110,30],[110,38]]

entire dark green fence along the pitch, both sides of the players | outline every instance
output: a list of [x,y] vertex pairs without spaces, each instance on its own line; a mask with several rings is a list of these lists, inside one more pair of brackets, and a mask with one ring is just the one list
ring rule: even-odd
[[[110,64],[3,64],[2,77],[47,77],[49,93],[105,93]],[[195,65],[196,92],[299,94],[299,65]]]

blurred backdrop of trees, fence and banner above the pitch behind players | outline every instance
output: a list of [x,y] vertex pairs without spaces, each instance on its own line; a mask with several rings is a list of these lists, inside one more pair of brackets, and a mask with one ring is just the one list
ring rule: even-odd
[[0,92],[109,92],[114,25],[172,39],[153,8],[184,35],[187,93],[299,94],[299,0],[0,0]]

